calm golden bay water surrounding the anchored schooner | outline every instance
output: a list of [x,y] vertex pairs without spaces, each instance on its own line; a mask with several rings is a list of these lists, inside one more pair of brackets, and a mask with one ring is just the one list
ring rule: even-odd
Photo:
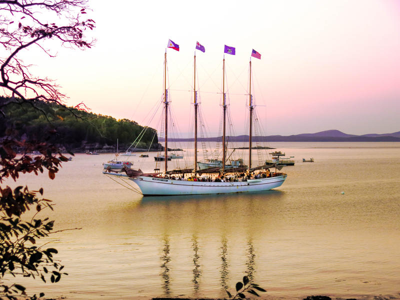
[[[101,174],[111,154],[24,176],[55,202],[57,229],[82,228],[52,236],[68,276],[24,284],[68,299],[224,297],[247,274],[265,298],[400,298],[400,144],[268,145],[295,165],[262,193],[143,198]],[[150,171],[151,156],[130,158]]]

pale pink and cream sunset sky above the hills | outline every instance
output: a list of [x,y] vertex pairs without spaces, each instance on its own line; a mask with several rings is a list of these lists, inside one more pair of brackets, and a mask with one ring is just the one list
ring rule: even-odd
[[[92,112],[145,125],[161,101],[167,49],[171,107],[187,135],[192,114],[193,54],[209,134],[218,132],[224,44],[234,132],[243,134],[251,49],[253,95],[265,134],[338,129],[351,134],[400,130],[400,1],[110,1],[89,0],[94,48],[29,50],[34,72],[56,79]],[[157,127],[159,117],[148,124]]]

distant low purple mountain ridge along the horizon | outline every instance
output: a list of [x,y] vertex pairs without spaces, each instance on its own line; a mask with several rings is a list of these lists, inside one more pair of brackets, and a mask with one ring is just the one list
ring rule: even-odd
[[[194,138],[168,138],[170,141],[193,141]],[[221,136],[200,137],[199,141],[221,141]],[[229,141],[247,141],[248,135],[227,136]],[[347,134],[336,129],[293,135],[253,136],[253,141],[400,141],[400,131],[393,133]],[[159,138],[159,141],[163,141]]]

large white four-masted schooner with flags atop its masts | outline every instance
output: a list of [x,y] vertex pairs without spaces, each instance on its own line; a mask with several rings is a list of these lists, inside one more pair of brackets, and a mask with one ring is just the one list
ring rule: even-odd
[[[196,48],[204,51],[204,47],[197,42]],[[168,41],[169,48],[179,50],[179,46]],[[233,50],[233,53],[232,53]],[[254,50],[253,50],[254,51]],[[225,45],[225,53],[234,54],[234,48]],[[258,53],[258,52],[257,52]],[[258,53],[259,54],[259,53]],[[253,55],[252,55],[253,56]],[[123,177],[136,183],[144,196],[149,195],[191,195],[191,194],[214,194],[214,193],[232,193],[248,191],[264,191],[280,186],[286,179],[287,174],[275,171],[269,171],[269,168],[276,167],[275,164],[261,165],[251,167],[251,137],[252,137],[252,112],[253,102],[251,95],[251,58],[250,58],[250,89],[249,89],[249,159],[248,166],[227,165],[226,164],[226,142],[225,142],[225,122],[226,122],[226,94],[225,94],[225,57],[222,63],[222,160],[216,160],[215,165],[205,169],[197,169],[197,91],[195,88],[195,54],[194,54],[194,168],[176,169],[168,171],[168,160],[164,160],[164,171],[162,173],[143,173],[140,169],[134,170],[123,168],[122,172],[113,172],[109,169],[103,173]],[[164,155],[168,157],[168,90],[166,86],[166,50],[164,54]],[[184,173],[191,173],[191,180],[184,179]],[[214,174],[213,180],[209,177],[197,177],[197,174]],[[241,175],[241,176],[240,176]]]

